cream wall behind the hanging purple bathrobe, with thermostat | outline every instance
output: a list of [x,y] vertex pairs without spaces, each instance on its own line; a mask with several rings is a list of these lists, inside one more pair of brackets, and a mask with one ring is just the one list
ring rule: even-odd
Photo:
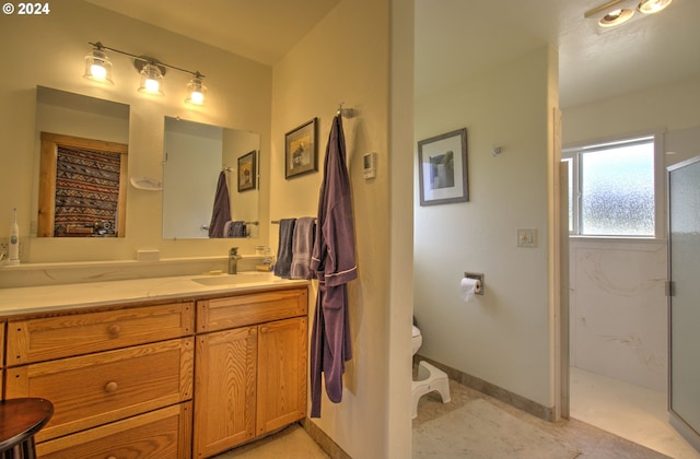
[[[349,285],[353,358],[346,367],[342,402],[334,404],[324,395],[322,417],[314,422],[346,452],[358,458],[410,457],[410,411],[406,403],[410,399],[410,304],[396,305],[389,295],[394,247],[390,231],[395,223],[410,226],[410,213],[405,213],[402,221],[390,220],[395,208],[389,203],[389,174],[397,154],[388,140],[390,20],[388,0],[342,1],[273,71],[272,220],[316,215],[332,117],[342,102],[355,110],[353,118],[343,119],[359,269],[359,279]],[[412,28],[410,14],[401,15],[400,21],[404,25],[410,21],[406,28]],[[411,36],[406,46],[410,43]],[[409,106],[411,91],[409,85],[398,92]],[[314,117],[318,118],[319,172],[285,180],[284,133]],[[410,142],[410,119],[401,128],[402,139]],[[369,152],[377,154],[377,175],[365,180],[362,155]],[[406,157],[410,151],[400,154]],[[399,167],[404,177],[410,178],[410,160],[406,158]],[[410,189],[406,189],[397,201],[410,199]],[[405,234],[409,236],[404,248],[410,257],[410,228]],[[270,235],[270,244],[277,247],[276,234]],[[395,269],[402,274],[404,284],[410,285],[410,264],[404,262]],[[313,318],[313,310],[310,315]],[[402,326],[396,326],[400,337],[389,332],[394,320]],[[389,376],[390,365],[402,373],[402,384],[393,382],[396,378]],[[390,399],[400,400],[401,404],[390,405]],[[400,414],[393,417],[398,422],[389,425],[393,410]]]

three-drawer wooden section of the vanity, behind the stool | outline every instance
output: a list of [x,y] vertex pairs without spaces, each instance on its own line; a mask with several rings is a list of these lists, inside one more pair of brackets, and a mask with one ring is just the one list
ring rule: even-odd
[[194,313],[188,301],[10,318],[5,397],[54,403],[39,456],[189,458]]

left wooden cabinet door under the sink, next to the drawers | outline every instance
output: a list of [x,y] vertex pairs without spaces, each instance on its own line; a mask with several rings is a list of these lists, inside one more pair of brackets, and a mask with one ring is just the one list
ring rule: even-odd
[[255,436],[257,334],[257,327],[245,327],[197,337],[195,458]]

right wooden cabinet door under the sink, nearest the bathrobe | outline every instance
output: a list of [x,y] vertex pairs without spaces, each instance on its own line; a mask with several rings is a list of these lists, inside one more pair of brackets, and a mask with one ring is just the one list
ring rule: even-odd
[[257,434],[306,415],[306,318],[259,327]]

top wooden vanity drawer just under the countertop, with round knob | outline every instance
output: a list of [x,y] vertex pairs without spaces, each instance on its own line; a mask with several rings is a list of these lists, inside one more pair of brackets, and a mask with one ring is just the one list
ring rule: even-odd
[[11,321],[8,366],[192,333],[192,302]]

